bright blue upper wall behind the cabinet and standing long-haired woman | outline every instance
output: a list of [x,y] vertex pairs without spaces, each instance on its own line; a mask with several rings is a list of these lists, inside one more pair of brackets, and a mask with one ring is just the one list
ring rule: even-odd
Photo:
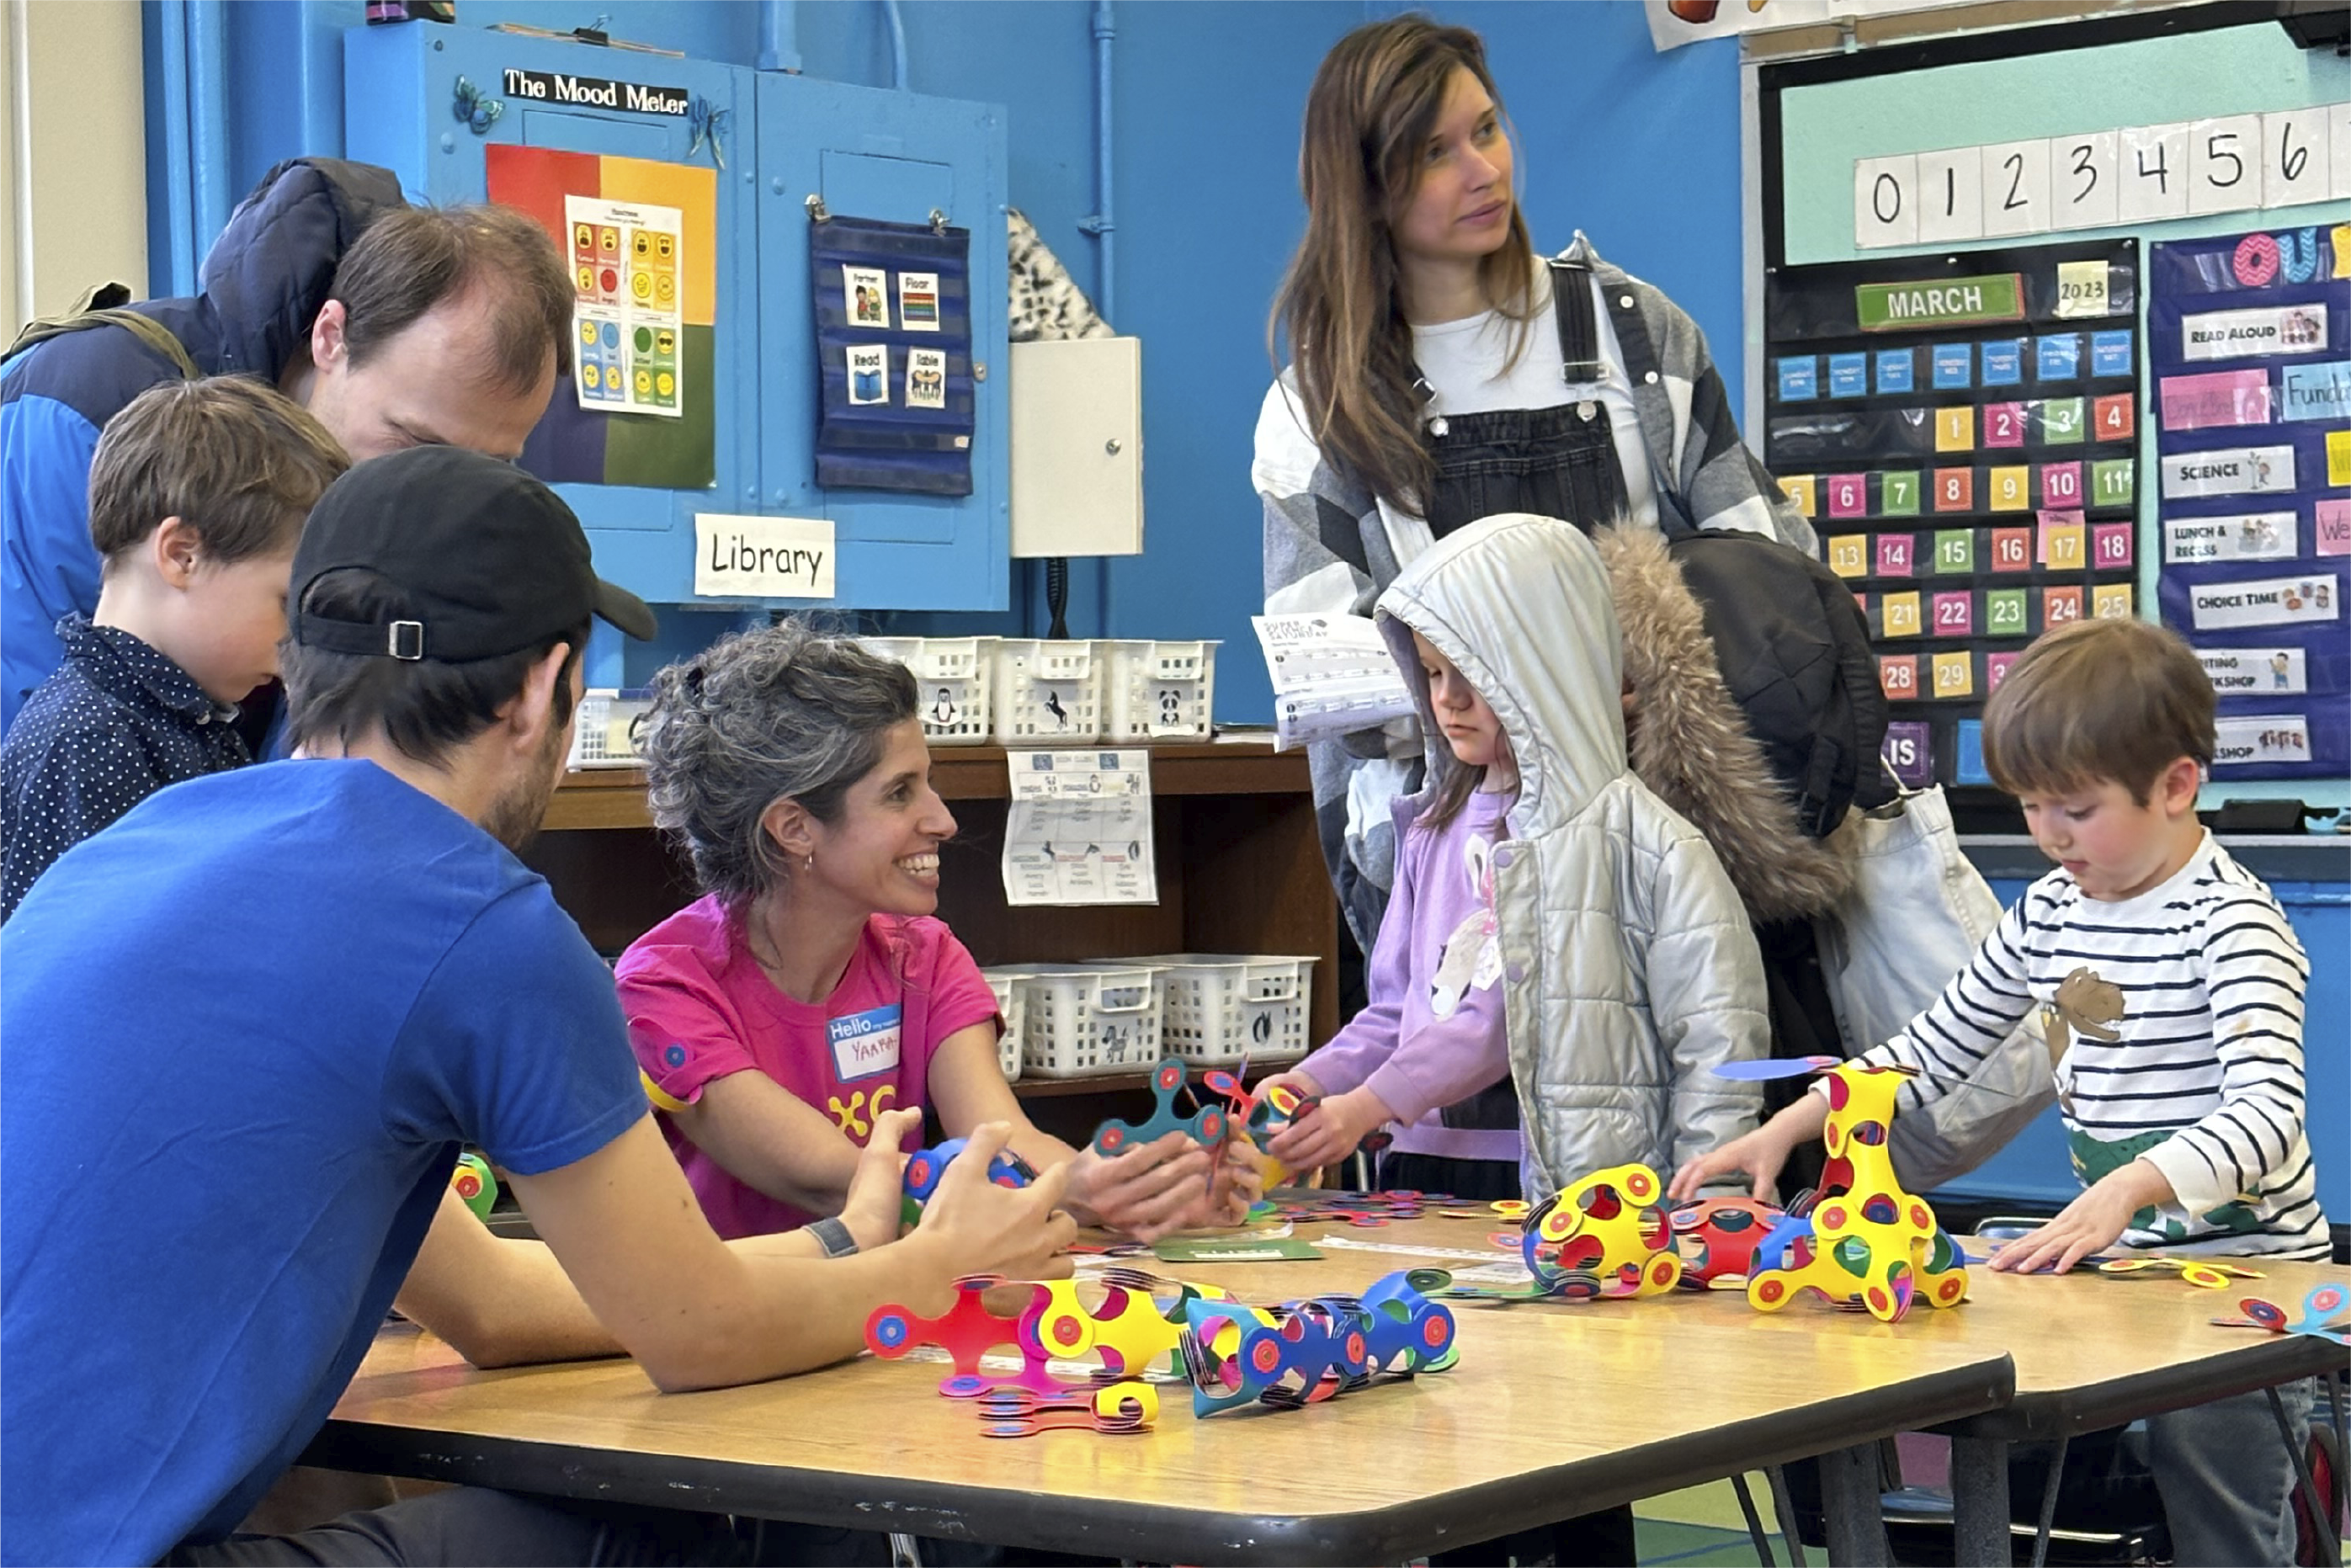
[[[148,0],[150,31],[162,5]],[[1114,38],[1114,327],[1143,339],[1145,555],[1074,562],[1070,628],[1110,637],[1223,637],[1218,717],[1267,722],[1272,689],[1248,630],[1258,609],[1260,508],[1251,435],[1272,378],[1265,315],[1302,228],[1298,122],[1324,52],[1399,5],[1368,0],[1119,0]],[[1740,122],[1730,42],[1655,54],[1641,0],[1460,0],[1434,7],[1479,28],[1519,132],[1535,242],[1585,228],[1610,261],[1662,284],[1721,350],[1740,343]],[[752,63],[757,5],[600,0],[614,38]],[[339,153],[341,31],[362,0],[237,0],[226,7],[223,202],[296,153]],[[468,24],[571,28],[560,0],[468,5]],[[1004,103],[1011,197],[1089,292],[1093,212],[1093,0],[900,0],[907,87]],[[802,0],[809,75],[886,85],[879,0]],[[155,179],[165,160],[150,158]],[[1672,202],[1657,193],[1672,190]],[[167,202],[150,200],[158,292],[172,273]],[[209,223],[209,242],[226,205]],[[1726,371],[1740,386],[1737,367]],[[1004,616],[903,616],[893,630],[1044,630],[1041,571],[1013,574]],[[879,607],[877,607],[879,609]],[[663,656],[701,646],[734,614],[670,616]],[[632,654],[625,679],[654,658]]]

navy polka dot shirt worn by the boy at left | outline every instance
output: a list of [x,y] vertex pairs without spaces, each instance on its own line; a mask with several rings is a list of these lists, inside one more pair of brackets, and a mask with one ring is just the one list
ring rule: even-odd
[[66,663],[0,743],[0,922],[52,860],[155,790],[254,759],[237,710],[146,642],[87,616],[56,635]]

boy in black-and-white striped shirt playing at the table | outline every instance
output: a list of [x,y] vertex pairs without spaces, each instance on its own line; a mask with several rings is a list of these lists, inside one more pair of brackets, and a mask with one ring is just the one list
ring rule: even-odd
[[[2142,621],[2041,637],[1984,708],[1984,766],[2057,870],[1864,1060],[1916,1067],[1902,1091],[1916,1110],[2041,1009],[2085,1192],[1994,1269],[2071,1269],[2116,1244],[2330,1255],[2304,1135],[2309,959],[2262,879],[2196,820],[2210,764],[2212,682]],[[1690,1161],[1676,1197],[1733,1171],[1768,1192],[1824,1119],[1827,1100],[1803,1095]],[[2278,1392],[2299,1436],[2311,1387]],[[2295,1472],[2264,1394],[2151,1418],[2149,1460],[2177,1568],[2295,1561]]]

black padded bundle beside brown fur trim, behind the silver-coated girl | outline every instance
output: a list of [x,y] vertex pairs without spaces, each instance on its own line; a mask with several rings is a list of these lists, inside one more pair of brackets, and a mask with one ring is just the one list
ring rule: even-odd
[[1895,797],[1878,762],[1886,693],[1853,590],[1815,557],[1744,529],[1674,529],[1714,658],[1747,729],[1815,839]]

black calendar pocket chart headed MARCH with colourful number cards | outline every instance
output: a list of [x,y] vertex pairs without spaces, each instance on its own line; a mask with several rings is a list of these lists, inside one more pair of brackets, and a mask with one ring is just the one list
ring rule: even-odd
[[1984,698],[2024,644],[2137,614],[2137,280],[2109,240],[1766,284],[1766,465],[1869,616],[1907,785],[1989,785]]

